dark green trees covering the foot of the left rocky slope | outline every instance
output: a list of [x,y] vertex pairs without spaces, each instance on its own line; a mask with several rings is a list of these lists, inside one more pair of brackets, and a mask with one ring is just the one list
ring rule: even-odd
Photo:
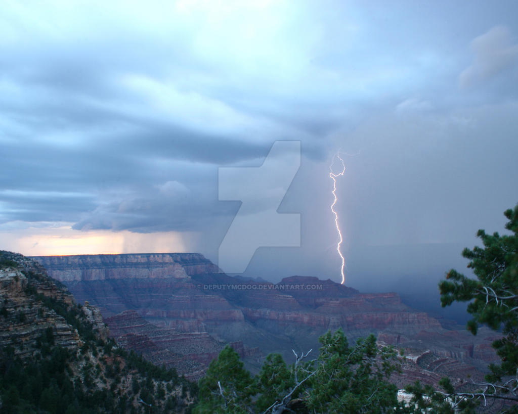
[[[110,349],[104,353],[109,360],[99,359],[97,367],[93,366],[95,359],[56,346],[51,327],[42,332],[36,348],[40,350],[38,358],[29,361],[16,357],[12,347],[0,352],[2,412],[177,412],[185,404],[181,399],[166,398],[164,386],[169,390],[181,386],[194,395],[197,392],[196,385],[180,378],[174,369],[153,365],[133,351],[115,347],[112,341],[97,339],[89,345],[98,354]],[[82,366],[80,372],[76,371],[78,366]],[[124,391],[119,387],[122,378],[128,378]],[[98,387],[99,382],[112,387]],[[131,404],[134,398],[152,407],[141,404],[135,408]]]

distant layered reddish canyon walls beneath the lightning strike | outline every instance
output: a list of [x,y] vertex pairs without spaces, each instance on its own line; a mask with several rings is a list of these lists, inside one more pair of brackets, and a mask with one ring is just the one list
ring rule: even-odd
[[[327,330],[350,342],[370,333],[405,351],[395,382],[436,384],[440,376],[482,378],[497,357],[493,332],[448,329],[397,293],[361,293],[332,280],[292,276],[274,284],[232,277],[196,253],[34,257],[80,302],[100,309],[110,335],[186,378],[203,375],[227,343],[252,372],[266,354],[286,361],[313,349]],[[439,300],[439,298],[438,298]]]

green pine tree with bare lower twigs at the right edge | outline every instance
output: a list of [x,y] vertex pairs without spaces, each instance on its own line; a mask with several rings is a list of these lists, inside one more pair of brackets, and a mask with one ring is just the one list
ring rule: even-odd
[[[472,319],[467,328],[471,333],[476,335],[477,328],[486,324],[502,334],[493,342],[501,363],[489,366],[486,381],[478,384],[480,390],[471,396],[482,403],[490,399],[518,402],[518,204],[503,214],[509,220],[505,228],[511,234],[490,235],[479,230],[477,236],[483,248],[465,248],[462,252],[470,260],[468,268],[477,278],[452,269],[447,280],[439,284],[443,307],[470,301],[467,310]],[[445,385],[452,396],[463,396],[448,387],[448,383]],[[508,412],[518,412],[518,406]]]

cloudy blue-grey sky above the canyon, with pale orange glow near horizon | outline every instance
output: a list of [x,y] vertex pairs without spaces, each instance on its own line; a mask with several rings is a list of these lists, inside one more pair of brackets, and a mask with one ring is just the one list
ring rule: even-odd
[[516,16],[514,0],[4,1],[0,248],[217,262],[239,208],[218,167],[299,140],[279,212],[301,214],[301,247],[261,248],[246,274],[340,280],[341,151],[346,283],[436,280],[518,202]]

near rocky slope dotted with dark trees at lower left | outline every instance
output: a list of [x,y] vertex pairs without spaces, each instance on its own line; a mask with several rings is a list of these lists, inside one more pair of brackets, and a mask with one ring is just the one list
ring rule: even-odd
[[0,251],[2,412],[139,412],[141,401],[185,412],[193,385],[108,335],[95,305],[77,304],[37,262]]

